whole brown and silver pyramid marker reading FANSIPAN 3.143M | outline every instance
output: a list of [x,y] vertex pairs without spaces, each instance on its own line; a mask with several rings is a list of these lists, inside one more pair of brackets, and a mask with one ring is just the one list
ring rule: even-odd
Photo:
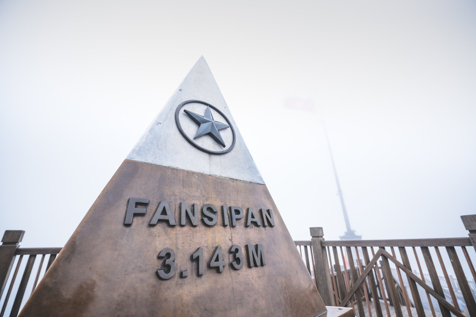
[[201,57],[20,317],[326,311]]

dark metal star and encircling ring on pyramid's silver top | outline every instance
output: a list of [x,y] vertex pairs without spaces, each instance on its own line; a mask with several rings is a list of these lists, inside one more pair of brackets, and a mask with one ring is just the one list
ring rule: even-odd
[[[180,113],[180,109],[182,109],[183,106],[185,106],[188,103],[200,103],[202,105],[207,106],[207,109],[205,110],[204,115],[197,114],[197,113],[194,113],[194,112],[191,112],[191,111],[188,111],[188,110],[184,110],[184,112],[188,115],[188,117],[190,117],[190,119],[192,119],[198,125],[197,126],[197,128],[198,128],[197,135],[195,136],[195,139],[198,138],[198,137],[204,136],[204,135],[209,135],[218,144],[220,144],[222,147],[225,147],[225,143],[224,143],[219,131],[223,130],[223,129],[230,128],[231,132],[233,134],[233,142],[232,142],[231,146],[228,149],[225,149],[223,151],[213,151],[213,150],[210,150],[210,149],[206,149],[206,148],[198,145],[197,142],[195,142],[193,139],[191,139],[187,135],[187,133],[185,133],[185,131],[182,128],[182,125],[180,124],[180,119],[178,118],[178,115]],[[211,114],[211,111],[209,110],[209,108],[217,111],[225,120],[227,120],[228,125],[214,120],[213,115]],[[197,149],[199,149],[201,151],[204,151],[206,153],[209,153],[209,154],[225,154],[225,153],[228,153],[229,151],[231,151],[235,147],[235,142],[236,142],[235,129],[231,125],[230,120],[217,107],[209,104],[208,102],[205,102],[205,101],[202,101],[202,100],[192,99],[192,100],[187,100],[187,101],[184,101],[184,102],[180,103],[177,107],[177,110],[175,110],[175,123],[177,124],[178,130],[180,131],[182,136],[188,141],[188,143],[190,143],[191,145],[193,145]]]

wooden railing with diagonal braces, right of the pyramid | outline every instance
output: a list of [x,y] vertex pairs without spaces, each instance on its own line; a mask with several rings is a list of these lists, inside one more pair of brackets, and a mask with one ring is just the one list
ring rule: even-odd
[[310,228],[311,240],[295,244],[328,306],[360,317],[476,316],[476,215],[461,218],[468,238],[326,241]]

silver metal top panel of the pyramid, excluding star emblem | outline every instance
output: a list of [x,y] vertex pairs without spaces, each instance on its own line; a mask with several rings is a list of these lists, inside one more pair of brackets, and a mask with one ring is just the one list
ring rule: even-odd
[[[182,136],[175,122],[175,111],[181,102],[190,99],[208,102],[228,118],[236,133],[236,144],[232,150],[225,154],[208,154],[191,145]],[[184,109],[202,111],[202,115],[204,111],[199,104],[188,104],[184,106]],[[218,112],[212,112],[215,120],[226,123],[225,118]],[[197,130],[197,124],[188,118],[183,110],[179,112],[179,120],[187,133],[193,134]],[[225,140],[226,148],[222,148],[208,135],[199,137],[195,141],[208,149],[216,151],[227,149],[232,140],[231,129],[221,130],[220,133]],[[265,184],[203,56],[198,59],[187,77],[149,125],[127,159]]]

